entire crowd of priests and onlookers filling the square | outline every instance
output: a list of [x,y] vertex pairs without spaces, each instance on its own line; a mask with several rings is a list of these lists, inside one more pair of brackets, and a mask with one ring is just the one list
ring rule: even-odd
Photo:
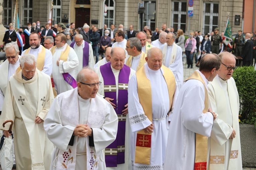
[[[32,26],[10,25],[0,65],[0,129],[13,134],[17,169],[242,170],[232,74],[236,59],[252,65],[255,36],[243,46],[239,30],[235,56],[218,28],[185,40],[166,24]],[[185,81],[184,53],[199,67]]]

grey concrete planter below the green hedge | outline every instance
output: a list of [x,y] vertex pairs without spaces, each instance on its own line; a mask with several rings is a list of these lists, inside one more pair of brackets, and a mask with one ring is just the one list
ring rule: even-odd
[[256,129],[249,124],[239,127],[243,167],[256,167]]

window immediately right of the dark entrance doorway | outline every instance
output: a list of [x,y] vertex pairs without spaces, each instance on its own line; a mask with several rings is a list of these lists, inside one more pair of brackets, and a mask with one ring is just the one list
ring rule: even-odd
[[115,1],[105,0],[104,5],[107,5],[107,16],[105,16],[104,24],[106,24],[107,27],[110,28],[111,24],[115,24]]

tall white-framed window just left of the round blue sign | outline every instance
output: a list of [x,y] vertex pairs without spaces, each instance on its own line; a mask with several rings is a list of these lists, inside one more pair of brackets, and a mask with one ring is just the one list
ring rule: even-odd
[[186,31],[187,2],[172,2],[172,28]]

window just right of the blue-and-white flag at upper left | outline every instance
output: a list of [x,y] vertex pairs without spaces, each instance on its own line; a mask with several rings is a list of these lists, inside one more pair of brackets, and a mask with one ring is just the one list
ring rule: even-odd
[[22,25],[27,25],[28,22],[32,23],[32,0],[23,1],[23,20]]

